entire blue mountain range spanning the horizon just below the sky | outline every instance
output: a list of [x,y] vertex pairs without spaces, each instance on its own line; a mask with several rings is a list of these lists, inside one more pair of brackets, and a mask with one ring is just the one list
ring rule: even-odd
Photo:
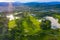
[[[60,2],[28,2],[28,3],[20,3],[20,2],[11,2],[13,6],[20,6],[20,5],[26,5],[26,6],[34,6],[34,5],[56,5],[60,4]],[[8,6],[8,2],[0,2],[0,6]]]

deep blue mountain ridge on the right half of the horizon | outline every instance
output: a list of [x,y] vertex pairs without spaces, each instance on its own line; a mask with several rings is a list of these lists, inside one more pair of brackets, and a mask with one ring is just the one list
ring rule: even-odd
[[27,6],[55,6],[55,5],[58,5],[60,4],[60,2],[42,2],[42,3],[39,3],[39,2],[30,2],[30,3],[25,3],[24,5],[27,5]]

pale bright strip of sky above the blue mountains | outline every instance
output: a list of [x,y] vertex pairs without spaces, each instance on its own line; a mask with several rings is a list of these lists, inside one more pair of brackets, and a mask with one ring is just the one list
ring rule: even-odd
[[0,0],[0,2],[60,2],[60,0]]

